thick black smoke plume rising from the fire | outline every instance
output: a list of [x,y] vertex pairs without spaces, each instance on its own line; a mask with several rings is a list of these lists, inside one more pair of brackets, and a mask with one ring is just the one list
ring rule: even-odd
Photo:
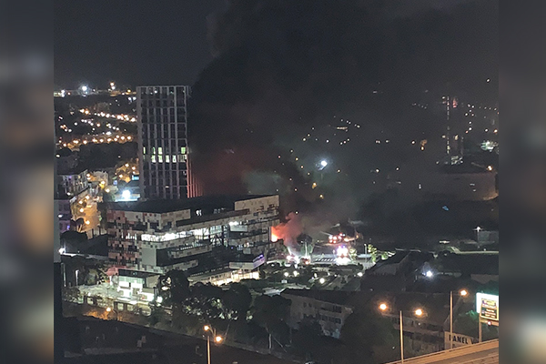
[[[304,209],[319,195],[310,187],[316,176],[289,158],[302,130],[350,115],[362,137],[379,128],[406,135],[426,119],[407,112],[424,90],[494,99],[479,80],[497,74],[497,3],[442,3],[240,0],[209,16],[216,58],[193,88],[188,130],[205,193],[278,192],[287,206]],[[369,194],[369,170],[406,157],[401,149],[378,156],[351,148],[306,150],[307,164],[328,153],[350,171],[339,174],[343,180],[325,178],[337,199],[319,201],[325,208],[358,205],[351,198]]]

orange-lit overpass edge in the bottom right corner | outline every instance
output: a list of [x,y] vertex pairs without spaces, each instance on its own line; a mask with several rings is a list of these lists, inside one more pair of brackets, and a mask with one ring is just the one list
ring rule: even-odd
[[[404,359],[404,364],[498,364],[499,339]],[[401,364],[393,361],[389,364]]]

